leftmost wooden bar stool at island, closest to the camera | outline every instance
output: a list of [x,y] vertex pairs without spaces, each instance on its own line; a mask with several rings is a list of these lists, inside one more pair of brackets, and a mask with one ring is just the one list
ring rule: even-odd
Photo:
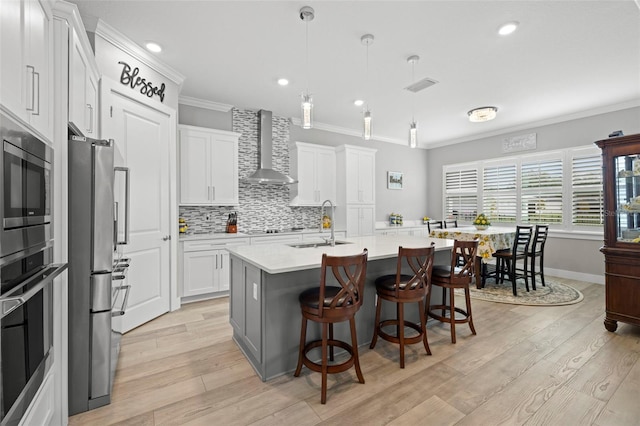
[[[311,288],[300,293],[299,301],[302,311],[302,327],[300,330],[300,348],[298,366],[293,374],[300,375],[304,364],[312,371],[322,373],[322,390],[320,402],[327,401],[327,374],[341,373],[355,365],[358,381],[364,383],[358,358],[358,339],[356,337],[355,314],[362,306],[364,283],[367,272],[368,251],[353,256],[327,256],[322,254],[320,268],[320,287]],[[331,278],[333,276],[333,278]],[[327,285],[328,282],[335,285]],[[307,320],[322,324],[322,339],[306,342]],[[333,338],[333,324],[349,321],[351,328],[351,344]],[[333,361],[333,348],[337,346],[350,354],[349,359],[339,364],[329,365]],[[313,362],[307,353],[320,347],[321,362]],[[329,355],[327,356],[327,350]]]

